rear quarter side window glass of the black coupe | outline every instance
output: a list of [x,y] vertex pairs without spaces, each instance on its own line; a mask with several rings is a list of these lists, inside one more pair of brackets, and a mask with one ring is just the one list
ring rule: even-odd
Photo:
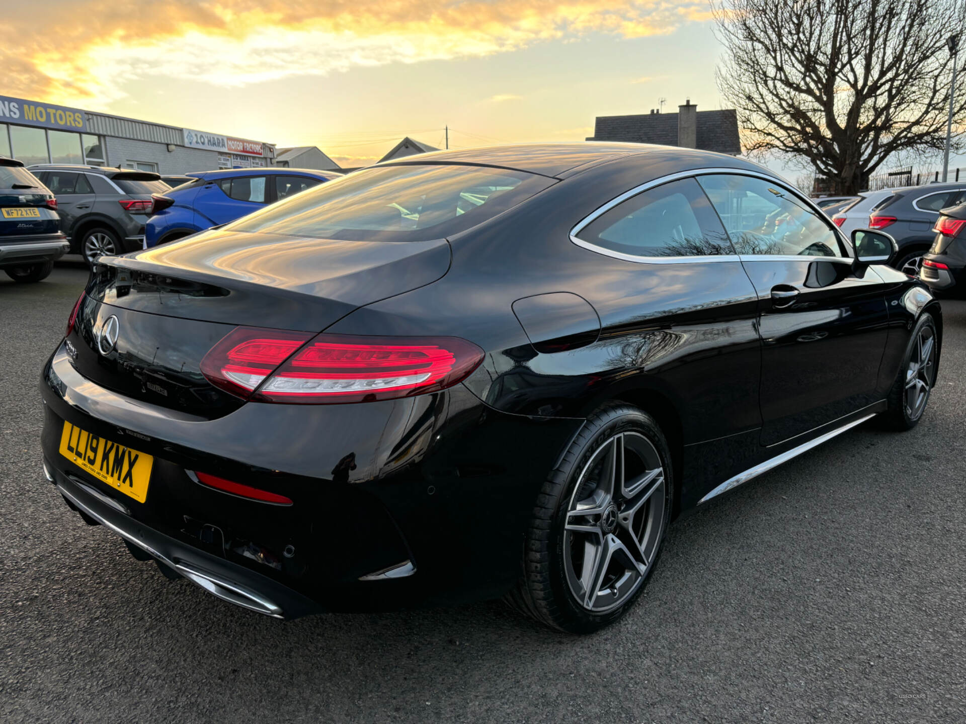
[[593,219],[575,236],[637,257],[734,254],[724,227],[694,179],[644,191]]

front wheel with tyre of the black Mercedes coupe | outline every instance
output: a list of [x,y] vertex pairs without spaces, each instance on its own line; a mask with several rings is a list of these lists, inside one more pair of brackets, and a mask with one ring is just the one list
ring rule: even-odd
[[925,405],[936,383],[938,343],[936,322],[926,312],[913,327],[902,366],[889,392],[889,409],[882,413],[886,427],[912,430],[923,418]]

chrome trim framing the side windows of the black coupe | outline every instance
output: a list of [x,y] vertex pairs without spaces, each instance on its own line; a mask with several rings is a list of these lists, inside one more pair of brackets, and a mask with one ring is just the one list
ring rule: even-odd
[[638,256],[635,254],[625,254],[619,251],[612,251],[611,249],[608,249],[603,246],[598,246],[597,244],[594,244],[590,241],[585,241],[582,238],[577,237],[577,235],[582,232],[583,228],[587,226],[590,222],[594,221],[599,216],[602,216],[603,214],[607,213],[618,204],[622,204],[628,199],[634,196],[637,196],[638,194],[641,194],[644,191],[647,191],[651,188],[655,188],[656,186],[662,186],[665,183],[669,183],[671,181],[678,181],[680,179],[693,179],[698,176],[709,176],[712,174],[731,174],[732,176],[751,176],[755,179],[763,179],[765,181],[772,181],[773,183],[776,183],[777,185],[781,186],[781,188],[783,188],[785,191],[794,195],[799,201],[805,202],[813,211],[815,211],[818,214],[819,219],[826,222],[825,225],[826,227],[828,227],[829,231],[832,232],[833,236],[838,237],[838,240],[844,244],[845,248],[848,250],[851,250],[854,253],[854,249],[852,249],[852,243],[849,241],[849,239],[845,237],[844,234],[842,234],[838,226],[836,226],[828,218],[825,212],[822,209],[819,209],[818,206],[816,206],[815,203],[808,196],[805,196],[804,194],[800,193],[798,190],[792,188],[786,181],[783,181],[776,176],[771,176],[769,174],[761,173],[760,171],[753,171],[752,169],[743,169],[743,168],[709,167],[709,168],[690,169],[688,171],[678,171],[673,174],[668,174],[667,176],[662,176],[659,179],[653,179],[651,181],[646,181],[644,183],[641,183],[640,185],[625,191],[619,196],[615,196],[614,198],[611,199],[611,201],[607,202],[601,207],[598,207],[597,209],[594,209],[586,216],[584,216],[580,221],[577,222],[577,224],[574,225],[574,228],[570,230],[570,240],[572,243],[574,243],[577,246],[580,246],[582,249],[587,249],[588,251],[592,251],[595,254],[601,254],[605,257],[611,257],[612,259],[620,259],[624,262],[634,262],[635,264],[710,264],[713,262],[741,262],[741,261],[749,261],[749,262],[750,261],[773,261],[774,262],[774,261],[791,261],[791,260],[798,261],[798,260],[816,260],[816,259],[824,259],[826,261],[843,261],[843,262],[848,262],[849,264],[852,263],[852,259],[846,258],[846,257],[812,257],[812,256],[785,257],[785,256],[777,256],[777,255],[776,256],[765,256],[765,255],[755,256],[755,255],[738,255],[738,254],[719,254],[719,255],[708,254],[700,257],[648,257],[648,256]]

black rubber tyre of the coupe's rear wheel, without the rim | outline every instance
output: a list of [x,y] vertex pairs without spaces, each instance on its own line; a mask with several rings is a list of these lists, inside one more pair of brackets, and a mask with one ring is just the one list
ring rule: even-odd
[[[570,586],[567,583],[566,570],[564,569],[564,555],[566,554],[566,551],[564,550],[563,543],[563,526],[566,520],[570,498],[574,492],[574,487],[577,486],[580,480],[583,467],[586,465],[587,461],[591,458],[594,452],[609,437],[618,432],[640,432],[647,437],[647,439],[658,451],[662,466],[665,469],[665,519],[663,530],[661,532],[661,540],[658,543],[654,560],[652,561],[648,570],[644,573],[644,580],[639,585],[638,590],[633,596],[612,611],[595,614],[584,609],[574,599],[574,596],[570,591]],[[599,628],[608,626],[624,614],[624,612],[640,596],[644,587],[647,585],[647,580],[654,571],[658,559],[661,557],[661,550],[664,547],[664,541],[668,535],[668,523],[670,521],[671,504],[673,502],[674,494],[673,474],[671,471],[671,457],[668,449],[668,443],[665,440],[664,434],[661,432],[660,428],[652,417],[628,405],[615,407],[606,421],[599,424],[598,429],[591,432],[589,440],[583,443],[582,451],[577,456],[576,461],[573,463],[570,470],[567,471],[566,480],[566,485],[561,488],[554,507],[552,523],[553,540],[551,547],[553,554],[550,561],[550,579],[554,590],[554,599],[556,599],[557,602],[557,611],[563,618],[563,621],[560,622],[563,624],[562,627],[564,627],[565,630],[575,633],[589,633]]]

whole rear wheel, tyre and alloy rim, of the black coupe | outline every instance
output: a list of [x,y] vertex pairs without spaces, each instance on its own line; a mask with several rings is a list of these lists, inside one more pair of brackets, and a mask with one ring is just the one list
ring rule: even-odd
[[507,601],[570,633],[619,619],[668,532],[670,460],[661,429],[637,407],[608,404],[592,414],[541,489]]

